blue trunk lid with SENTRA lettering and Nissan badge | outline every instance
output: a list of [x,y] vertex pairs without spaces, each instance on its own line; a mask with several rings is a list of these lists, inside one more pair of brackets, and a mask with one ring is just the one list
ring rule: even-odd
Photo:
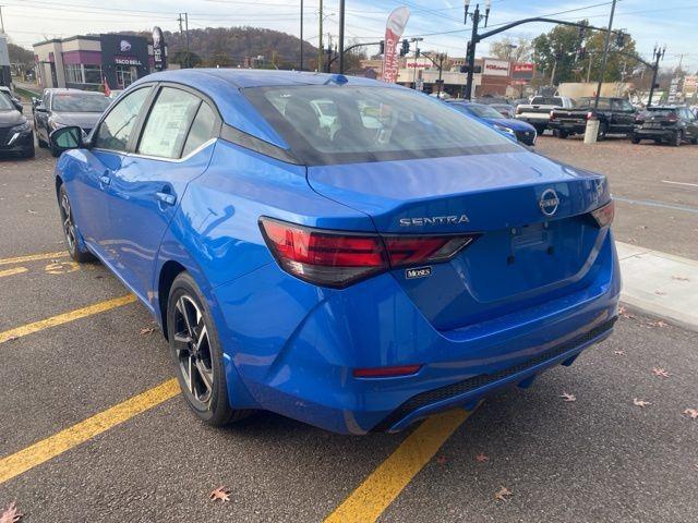
[[477,233],[447,263],[393,273],[435,328],[459,328],[585,284],[601,235],[601,175],[530,153],[310,167],[320,194],[394,234]]

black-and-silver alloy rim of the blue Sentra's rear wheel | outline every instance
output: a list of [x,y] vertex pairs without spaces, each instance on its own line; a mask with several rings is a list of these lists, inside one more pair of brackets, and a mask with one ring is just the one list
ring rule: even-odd
[[186,294],[174,306],[174,351],[178,369],[191,400],[208,410],[214,389],[214,370],[208,329],[198,305]]

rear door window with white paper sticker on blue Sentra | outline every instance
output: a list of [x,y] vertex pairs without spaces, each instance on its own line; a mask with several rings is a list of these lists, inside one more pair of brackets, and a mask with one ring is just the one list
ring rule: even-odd
[[145,122],[137,151],[160,158],[179,158],[201,102],[201,98],[191,93],[163,87]]

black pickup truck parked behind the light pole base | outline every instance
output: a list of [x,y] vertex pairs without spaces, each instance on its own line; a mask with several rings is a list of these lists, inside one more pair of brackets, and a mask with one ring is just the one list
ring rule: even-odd
[[[549,129],[555,136],[566,138],[575,134],[583,134],[587,121],[592,117],[594,99],[579,98],[575,109],[554,109],[550,113]],[[599,120],[598,139],[609,134],[633,133],[635,125],[635,108],[624,98],[599,98],[597,119]]]

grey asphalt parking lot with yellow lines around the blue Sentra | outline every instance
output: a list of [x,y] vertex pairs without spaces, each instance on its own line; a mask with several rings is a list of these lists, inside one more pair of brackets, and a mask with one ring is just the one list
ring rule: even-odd
[[[698,259],[698,147],[544,136],[538,148],[609,175],[618,240]],[[43,149],[0,162],[0,510],[16,501],[23,522],[696,521],[695,332],[625,311],[571,367],[399,435],[268,413],[208,428],[177,397],[145,308],[100,265],[65,256],[52,166]],[[229,502],[209,499],[219,486]]]

